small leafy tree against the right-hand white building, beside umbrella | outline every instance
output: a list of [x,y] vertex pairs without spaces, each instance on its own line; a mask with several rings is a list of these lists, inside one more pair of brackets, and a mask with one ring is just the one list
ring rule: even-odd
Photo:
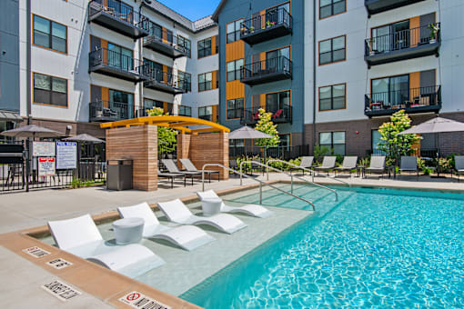
[[398,135],[411,127],[411,120],[404,110],[390,116],[390,122],[380,125],[378,132],[382,137],[378,142],[378,149],[387,154],[388,159],[397,160],[401,155],[413,153],[412,145],[416,144],[418,135]]

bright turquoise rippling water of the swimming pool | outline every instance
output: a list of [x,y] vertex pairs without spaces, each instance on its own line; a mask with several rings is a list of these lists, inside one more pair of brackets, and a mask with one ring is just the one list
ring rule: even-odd
[[[208,309],[464,305],[464,195],[296,187],[318,213],[181,295]],[[264,204],[305,208],[267,192]],[[257,194],[236,201],[257,202]]]

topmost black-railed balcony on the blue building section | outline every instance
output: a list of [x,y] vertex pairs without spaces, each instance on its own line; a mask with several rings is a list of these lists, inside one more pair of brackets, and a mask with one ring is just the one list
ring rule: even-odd
[[292,34],[293,18],[283,7],[247,19],[240,26],[240,39],[248,45]]

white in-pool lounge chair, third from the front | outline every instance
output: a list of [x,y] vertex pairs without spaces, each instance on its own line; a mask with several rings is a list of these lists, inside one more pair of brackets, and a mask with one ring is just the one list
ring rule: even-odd
[[158,206],[169,221],[177,224],[207,224],[227,234],[235,233],[247,226],[232,214],[215,214],[209,217],[192,214],[178,198],[171,202],[158,203]]

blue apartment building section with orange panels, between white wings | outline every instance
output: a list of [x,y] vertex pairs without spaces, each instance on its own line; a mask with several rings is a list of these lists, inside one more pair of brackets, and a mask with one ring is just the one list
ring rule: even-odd
[[221,125],[256,125],[258,109],[264,108],[277,124],[281,146],[302,145],[303,5],[223,0],[217,6]]

